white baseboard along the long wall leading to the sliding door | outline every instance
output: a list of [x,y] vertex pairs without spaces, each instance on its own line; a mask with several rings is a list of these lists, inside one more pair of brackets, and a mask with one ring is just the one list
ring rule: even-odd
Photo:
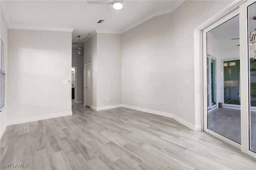
[[138,110],[138,111],[144,111],[146,113],[152,113],[155,115],[160,115],[160,116],[165,116],[165,117],[170,117],[173,118],[174,120],[180,122],[182,125],[185,125],[186,127],[192,129],[193,131],[202,131],[202,126],[201,125],[193,125],[192,123],[178,117],[177,115],[174,115],[172,113],[167,113],[167,112],[163,112],[163,111],[156,111],[156,110],[151,110],[151,109],[146,109],[146,108],[142,108],[142,107],[136,107],[136,106],[129,106],[129,105],[125,105],[122,104],[122,107],[128,108],[128,109],[134,109],[134,110]]

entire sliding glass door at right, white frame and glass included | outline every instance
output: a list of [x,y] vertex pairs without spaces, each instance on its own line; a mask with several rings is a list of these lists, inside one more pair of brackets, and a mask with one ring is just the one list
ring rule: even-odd
[[256,2],[202,31],[203,129],[256,157]]

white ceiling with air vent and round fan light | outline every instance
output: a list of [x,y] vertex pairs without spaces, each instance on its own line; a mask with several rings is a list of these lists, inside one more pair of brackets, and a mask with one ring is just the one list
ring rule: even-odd
[[[110,1],[111,2],[111,1]],[[124,33],[161,14],[173,12],[184,0],[125,0],[121,10],[86,0],[1,0],[9,28],[72,30],[72,42],[88,39],[89,32]],[[103,23],[97,23],[105,20]]]

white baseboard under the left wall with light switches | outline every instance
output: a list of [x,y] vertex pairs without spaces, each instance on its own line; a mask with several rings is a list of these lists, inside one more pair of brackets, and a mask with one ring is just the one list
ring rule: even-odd
[[68,116],[72,115],[72,111],[66,111],[66,112],[61,112],[61,113],[52,113],[48,115],[39,115],[39,116],[33,116],[33,117],[26,117],[22,119],[12,119],[8,121],[8,125],[16,125],[19,123],[27,123],[31,121],[38,121],[38,120],[43,120],[43,119],[51,119],[55,117],[62,117],[62,116]]

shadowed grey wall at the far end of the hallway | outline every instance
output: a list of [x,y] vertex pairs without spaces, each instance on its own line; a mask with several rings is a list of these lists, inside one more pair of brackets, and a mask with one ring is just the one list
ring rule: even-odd
[[[76,82],[76,90],[77,90],[77,101],[78,103],[82,103],[84,100],[84,89],[83,89],[83,83],[84,83],[84,47],[81,47],[81,53],[76,53],[77,47],[72,48],[72,66],[76,66],[77,70],[77,82]],[[75,94],[76,95],[76,94]]]

